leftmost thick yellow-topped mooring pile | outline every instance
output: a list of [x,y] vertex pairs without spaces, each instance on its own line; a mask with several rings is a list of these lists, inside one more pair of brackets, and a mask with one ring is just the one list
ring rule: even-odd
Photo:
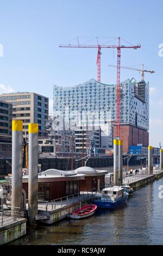
[[22,209],[22,135],[23,121],[12,120],[12,198],[11,210]]

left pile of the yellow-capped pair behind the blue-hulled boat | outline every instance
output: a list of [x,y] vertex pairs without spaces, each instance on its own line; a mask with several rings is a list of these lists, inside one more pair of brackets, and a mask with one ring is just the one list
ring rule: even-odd
[[118,139],[114,139],[114,186],[118,184]]

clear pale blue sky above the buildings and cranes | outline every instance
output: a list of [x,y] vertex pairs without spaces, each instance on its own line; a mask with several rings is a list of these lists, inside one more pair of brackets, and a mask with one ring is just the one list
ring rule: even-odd
[[[77,36],[81,44],[96,36],[101,37],[99,43],[121,36],[141,44],[137,50],[122,49],[121,65],[143,63],[155,71],[145,73],[150,86],[149,144],[163,146],[162,12],[162,0],[0,0],[0,93],[48,96],[52,112],[53,84],[74,86],[97,77],[96,49],[59,44],[76,44]],[[116,69],[108,64],[116,64],[116,50],[103,49],[101,55],[101,82],[116,83]],[[137,71],[121,70],[121,81],[132,77],[141,79]]]

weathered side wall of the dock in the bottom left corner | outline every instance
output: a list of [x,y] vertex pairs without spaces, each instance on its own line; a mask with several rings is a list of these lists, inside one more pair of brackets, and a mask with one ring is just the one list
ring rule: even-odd
[[5,245],[26,235],[26,219],[0,227],[0,245]]

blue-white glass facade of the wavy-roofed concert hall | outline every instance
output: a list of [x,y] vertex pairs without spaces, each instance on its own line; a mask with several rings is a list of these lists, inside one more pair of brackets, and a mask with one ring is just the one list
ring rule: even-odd
[[[121,83],[121,123],[130,124],[148,130],[149,123],[149,83],[145,84],[145,97],[135,93],[137,82],[126,80]],[[139,86],[139,84],[138,84]],[[61,113],[65,120],[74,116],[83,120],[83,113],[89,118],[93,113],[99,119],[116,121],[116,85],[99,83],[94,79],[74,87],[53,88],[53,112]],[[79,120],[77,120],[78,123]],[[79,123],[78,123],[79,124]]]

